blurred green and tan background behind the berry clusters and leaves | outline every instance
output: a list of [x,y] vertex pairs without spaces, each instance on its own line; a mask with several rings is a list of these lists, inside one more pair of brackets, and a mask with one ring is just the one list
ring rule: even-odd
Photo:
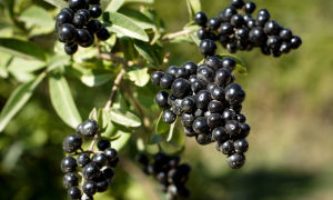
[[[214,16],[224,0],[202,0],[203,10]],[[243,112],[252,130],[246,164],[231,170],[214,146],[201,147],[186,139],[183,159],[193,171],[190,199],[209,200],[331,200],[333,199],[333,1],[256,0],[282,26],[303,39],[302,47],[280,59],[259,50],[236,53],[249,76],[239,76],[246,100]],[[157,0],[153,6],[168,32],[188,22],[185,1]],[[169,44],[170,63],[200,61],[196,47]],[[225,52],[220,49],[221,52]],[[1,59],[1,56],[0,56]],[[110,86],[97,89],[70,80],[78,107],[87,117],[102,106]],[[1,106],[14,84],[0,80]],[[62,189],[62,138],[72,132],[46,101],[47,87],[0,133],[0,199],[65,199]],[[131,148],[123,156],[131,154]],[[141,184],[138,172],[117,169],[111,189],[101,200],[143,200],[157,192],[154,182]],[[143,180],[144,181],[144,180]],[[142,187],[144,186],[144,187]],[[160,193],[159,193],[160,194]],[[160,194],[162,197],[162,194]]]

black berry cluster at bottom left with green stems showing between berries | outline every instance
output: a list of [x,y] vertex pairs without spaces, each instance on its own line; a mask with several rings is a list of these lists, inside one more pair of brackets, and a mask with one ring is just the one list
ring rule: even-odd
[[[107,191],[114,178],[113,168],[117,167],[119,157],[109,140],[98,141],[99,151],[82,149],[83,139],[92,139],[98,133],[98,123],[87,120],[78,126],[77,133],[65,137],[62,142],[62,149],[67,153],[61,161],[61,170],[65,173],[63,186],[71,199],[92,200],[94,193]],[[78,167],[81,168],[80,171]]]

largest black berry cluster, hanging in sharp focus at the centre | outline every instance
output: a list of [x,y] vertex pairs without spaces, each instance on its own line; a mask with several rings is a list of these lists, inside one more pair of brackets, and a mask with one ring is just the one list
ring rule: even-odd
[[212,56],[200,66],[186,62],[183,67],[169,67],[167,73],[155,71],[151,76],[154,84],[171,89],[170,93],[160,91],[155,96],[155,102],[164,109],[163,122],[173,123],[176,116],[181,117],[184,133],[195,137],[200,144],[215,141],[216,149],[228,156],[233,169],[245,162],[243,153],[249,148],[245,138],[250,133],[246,118],[240,113],[245,92],[234,83],[235,67],[232,58],[221,60]]

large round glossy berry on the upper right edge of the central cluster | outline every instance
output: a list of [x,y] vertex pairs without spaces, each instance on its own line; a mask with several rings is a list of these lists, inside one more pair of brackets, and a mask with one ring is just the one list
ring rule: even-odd
[[230,104],[238,104],[245,99],[245,91],[238,83],[231,83],[225,88],[225,100]]

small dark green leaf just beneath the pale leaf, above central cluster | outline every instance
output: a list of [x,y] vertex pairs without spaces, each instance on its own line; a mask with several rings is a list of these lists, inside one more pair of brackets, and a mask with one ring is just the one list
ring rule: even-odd
[[154,67],[159,66],[159,58],[153,51],[152,46],[143,41],[135,40],[134,48],[149,63],[153,64]]

